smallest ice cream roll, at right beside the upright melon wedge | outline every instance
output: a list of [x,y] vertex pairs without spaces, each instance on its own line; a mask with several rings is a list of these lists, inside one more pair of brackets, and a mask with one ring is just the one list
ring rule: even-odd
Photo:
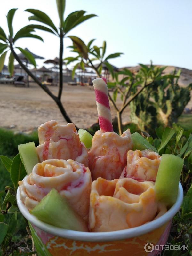
[[150,150],[127,152],[127,166],[120,178],[132,177],[136,180],[155,181],[161,156]]

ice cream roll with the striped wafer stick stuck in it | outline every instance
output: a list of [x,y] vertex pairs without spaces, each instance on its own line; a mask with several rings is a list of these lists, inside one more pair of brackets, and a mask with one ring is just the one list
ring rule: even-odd
[[97,131],[92,138],[92,148],[88,152],[92,179],[118,179],[126,166],[127,151],[132,147],[129,129],[121,136],[115,132]]

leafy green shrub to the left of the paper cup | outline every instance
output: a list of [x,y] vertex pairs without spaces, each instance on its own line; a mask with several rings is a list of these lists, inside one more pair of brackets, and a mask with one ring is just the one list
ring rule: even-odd
[[16,190],[18,181],[22,180],[27,173],[19,154],[13,160],[7,156],[0,156],[0,159],[10,173],[13,184],[13,187],[6,186],[5,192],[0,191],[0,255],[32,255],[36,252],[31,252],[25,239],[21,239],[18,242],[13,240],[14,234],[18,232],[17,223],[18,215],[20,214],[16,202]]

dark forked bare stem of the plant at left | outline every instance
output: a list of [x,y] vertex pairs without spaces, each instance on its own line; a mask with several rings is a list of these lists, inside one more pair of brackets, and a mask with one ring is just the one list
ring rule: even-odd
[[[14,51],[13,49],[13,45],[12,43],[10,42],[10,49],[12,51],[12,54],[13,56],[15,57],[15,59],[18,61],[18,63],[20,64],[20,66],[25,70],[25,72],[31,76],[31,78],[55,101],[55,103],[57,104],[57,106],[59,107],[59,110],[62,114],[62,116],[65,118],[65,120],[68,122],[68,123],[72,123],[70,117],[68,116],[65,108],[63,107],[63,104],[61,102],[61,96],[60,96],[60,93],[62,93],[62,88],[63,88],[63,85],[61,84],[60,82],[60,93],[57,96],[55,96],[49,89],[46,85],[43,85],[37,78],[36,76],[33,75],[33,73],[23,64],[23,62],[20,60],[20,58],[18,57],[18,55],[16,54],[16,52]],[[62,50],[63,51],[63,50]],[[61,58],[61,61],[62,61],[62,58]],[[62,72],[62,65],[61,65],[61,72]],[[62,73],[61,73],[62,74]],[[61,81],[63,81],[63,78],[61,76]],[[60,96],[60,98],[59,98]],[[78,127],[76,127],[76,129],[78,129]]]

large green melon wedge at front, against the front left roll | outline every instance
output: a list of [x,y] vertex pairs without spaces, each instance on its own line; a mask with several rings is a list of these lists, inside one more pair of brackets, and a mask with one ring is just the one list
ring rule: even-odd
[[30,213],[39,220],[55,227],[76,231],[88,231],[84,220],[54,188],[30,211]]

